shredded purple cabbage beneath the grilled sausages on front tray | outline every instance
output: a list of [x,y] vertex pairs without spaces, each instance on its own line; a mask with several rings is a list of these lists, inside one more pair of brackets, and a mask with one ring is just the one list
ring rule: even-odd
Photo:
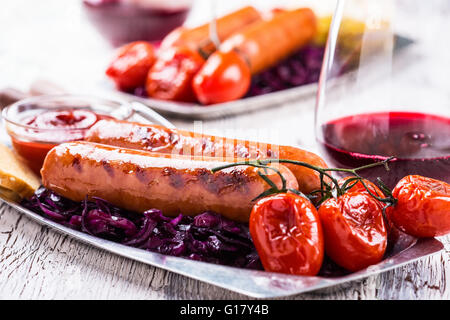
[[143,214],[92,198],[74,202],[39,188],[22,202],[26,208],[67,227],[145,250],[228,266],[260,269],[248,225],[204,212],[169,218],[160,210]]

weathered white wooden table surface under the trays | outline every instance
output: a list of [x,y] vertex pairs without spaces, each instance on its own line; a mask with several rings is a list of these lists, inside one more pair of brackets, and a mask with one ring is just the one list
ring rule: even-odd
[[[200,1],[201,2],[201,1]],[[85,22],[78,1],[4,0],[0,11],[0,88],[27,89],[36,78],[71,90],[101,85],[111,48]],[[64,4],[62,4],[64,3]],[[201,5],[196,7],[200,12]],[[190,18],[195,20],[195,16]],[[26,22],[26,23],[25,23]],[[58,27],[55,27],[58,26]],[[31,29],[30,29],[31,28]],[[317,151],[314,97],[239,117],[180,128],[298,145]],[[288,299],[449,299],[450,237],[430,258],[361,281]],[[93,248],[0,204],[1,299],[247,299],[178,274]]]

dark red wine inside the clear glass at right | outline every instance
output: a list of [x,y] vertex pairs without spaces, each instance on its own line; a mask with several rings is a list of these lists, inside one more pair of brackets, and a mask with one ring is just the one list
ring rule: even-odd
[[390,188],[418,174],[450,183],[450,118],[415,112],[379,112],[348,116],[321,127],[324,152],[336,167],[354,168],[394,156],[384,166],[363,170]]

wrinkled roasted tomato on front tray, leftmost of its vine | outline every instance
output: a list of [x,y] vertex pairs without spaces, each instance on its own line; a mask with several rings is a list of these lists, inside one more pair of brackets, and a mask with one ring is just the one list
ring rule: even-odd
[[249,226],[266,271],[310,276],[319,272],[322,227],[308,199],[291,193],[263,198],[253,206]]

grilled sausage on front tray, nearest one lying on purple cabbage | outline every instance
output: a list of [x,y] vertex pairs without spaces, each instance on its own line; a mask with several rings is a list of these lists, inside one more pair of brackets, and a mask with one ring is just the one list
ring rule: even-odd
[[[151,208],[173,216],[207,210],[248,221],[252,199],[269,188],[258,168],[239,166],[212,173],[224,162],[90,142],[64,143],[47,155],[41,170],[44,186],[74,201],[100,197],[121,208],[143,212]],[[294,175],[277,167],[287,187],[296,188]],[[282,186],[279,176],[268,177]]]

